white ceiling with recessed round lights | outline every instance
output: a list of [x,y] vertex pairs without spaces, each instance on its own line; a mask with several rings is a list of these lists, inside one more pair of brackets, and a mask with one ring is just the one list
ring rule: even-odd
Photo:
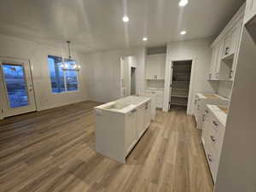
[[[37,41],[71,40],[83,52],[216,35],[244,0],[1,0],[0,33]],[[130,22],[122,21],[127,14]],[[179,35],[185,29],[185,36]]]

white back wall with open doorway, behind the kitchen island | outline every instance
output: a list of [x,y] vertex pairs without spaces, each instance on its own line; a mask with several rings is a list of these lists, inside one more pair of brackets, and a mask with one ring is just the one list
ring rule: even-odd
[[120,58],[134,55],[137,57],[137,93],[144,90],[145,49],[114,49],[98,51],[82,56],[85,64],[85,81],[88,82],[90,100],[111,102],[118,99],[120,91]]

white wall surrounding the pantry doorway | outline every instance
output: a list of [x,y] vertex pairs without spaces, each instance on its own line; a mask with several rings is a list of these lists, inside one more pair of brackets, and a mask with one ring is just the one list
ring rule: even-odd
[[[215,92],[218,84],[216,82],[207,81],[207,76],[210,69],[212,49],[210,48],[211,39],[195,39],[189,41],[171,42],[167,44],[166,57],[166,74],[170,70],[170,62],[178,60],[195,59],[194,66],[194,90],[192,93],[192,101],[194,101],[197,92]],[[170,85],[170,78],[166,79],[166,87]],[[165,91],[164,106],[168,106],[169,94]],[[194,109],[194,102],[192,110]],[[164,108],[167,110],[167,108]],[[191,112],[193,113],[193,111]]]

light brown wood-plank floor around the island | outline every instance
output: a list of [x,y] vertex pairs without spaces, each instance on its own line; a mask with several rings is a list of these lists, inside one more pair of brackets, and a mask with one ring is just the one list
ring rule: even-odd
[[158,111],[121,165],[94,150],[97,104],[80,102],[0,121],[0,191],[212,192],[191,116]]

